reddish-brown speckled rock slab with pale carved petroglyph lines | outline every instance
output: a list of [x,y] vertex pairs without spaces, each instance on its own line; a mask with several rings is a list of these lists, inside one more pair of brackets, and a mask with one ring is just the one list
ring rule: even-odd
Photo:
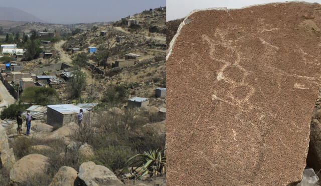
[[301,179],[321,87],[321,5],[203,10],[167,56],[168,185]]

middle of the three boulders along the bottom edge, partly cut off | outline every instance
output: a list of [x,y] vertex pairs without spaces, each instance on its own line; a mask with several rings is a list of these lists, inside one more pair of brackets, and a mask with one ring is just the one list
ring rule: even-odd
[[74,186],[76,178],[77,171],[74,168],[62,166],[59,168],[49,186]]

